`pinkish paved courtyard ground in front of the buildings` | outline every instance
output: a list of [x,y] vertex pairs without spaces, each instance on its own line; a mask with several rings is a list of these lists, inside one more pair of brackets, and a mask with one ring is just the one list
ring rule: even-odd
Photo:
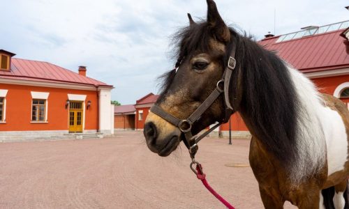
[[[196,159],[236,208],[263,208],[246,139],[206,138]],[[142,132],[0,144],[0,208],[224,208],[189,169],[185,146],[158,157]],[[286,203],[285,208],[293,208]]]

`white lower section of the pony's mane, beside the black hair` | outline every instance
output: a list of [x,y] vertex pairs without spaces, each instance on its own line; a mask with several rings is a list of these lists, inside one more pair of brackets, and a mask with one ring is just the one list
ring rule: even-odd
[[294,185],[318,172],[326,160],[326,142],[322,121],[323,102],[314,84],[301,72],[288,67],[297,92],[299,109],[297,116],[298,157],[290,170],[290,180]]

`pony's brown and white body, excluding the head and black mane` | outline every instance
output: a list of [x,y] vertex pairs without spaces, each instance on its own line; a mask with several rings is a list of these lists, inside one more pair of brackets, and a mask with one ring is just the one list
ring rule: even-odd
[[[344,208],[343,192],[349,176],[348,108],[331,95],[319,95],[309,79],[292,68],[288,69],[303,103],[301,107],[304,107],[301,111],[304,116],[299,116],[297,124],[297,129],[302,130],[297,137],[301,150],[299,158],[304,159],[296,161],[293,169],[286,170],[278,157],[270,153],[258,137],[253,136],[249,160],[258,180],[262,201],[265,208],[283,208],[285,201],[299,208],[322,208],[320,191],[335,186],[334,206]],[[251,119],[244,118],[244,121],[248,124]],[[313,136],[313,130],[318,131],[318,136]],[[314,141],[318,143],[314,145]],[[307,167],[302,165],[307,161],[311,161],[313,167],[309,167],[309,162]]]

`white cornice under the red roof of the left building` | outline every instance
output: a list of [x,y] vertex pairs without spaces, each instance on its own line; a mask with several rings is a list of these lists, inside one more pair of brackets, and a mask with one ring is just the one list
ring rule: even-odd
[[[42,87],[49,87],[49,88],[67,88],[67,89],[96,91],[95,86],[86,85],[86,84],[38,82],[38,81],[27,81],[27,80],[6,79],[6,78],[0,78],[0,84],[13,84],[13,85],[23,85],[23,86],[42,86]],[[112,87],[99,86],[98,89],[100,89],[100,88],[110,89]]]

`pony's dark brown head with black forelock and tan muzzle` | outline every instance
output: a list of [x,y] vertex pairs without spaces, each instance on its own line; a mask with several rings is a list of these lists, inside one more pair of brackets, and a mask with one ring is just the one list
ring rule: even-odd
[[[225,68],[226,51],[231,39],[230,29],[223,22],[216,3],[207,0],[207,21],[194,22],[177,33],[177,64],[165,75],[163,91],[156,106],[176,118],[188,118],[211,94]],[[195,123],[191,133],[224,117],[224,100],[220,95]],[[184,127],[185,128],[185,127]],[[144,125],[147,146],[154,153],[168,156],[184,141],[184,134],[172,123],[149,112]]]

